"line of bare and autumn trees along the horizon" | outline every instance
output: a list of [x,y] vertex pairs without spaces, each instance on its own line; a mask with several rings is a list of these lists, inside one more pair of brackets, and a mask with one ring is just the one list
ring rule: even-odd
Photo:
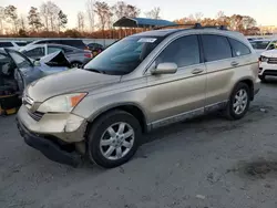
[[[117,1],[110,6],[104,1],[88,0],[85,8],[85,11],[78,12],[75,28],[68,29],[68,15],[52,1],[43,2],[39,8],[31,7],[25,15],[19,15],[14,6],[0,7],[0,35],[119,39],[142,31],[142,29],[114,29],[113,22],[122,17],[162,19],[162,11],[158,7],[142,12],[136,6],[124,1]],[[260,32],[254,18],[242,14],[228,17],[222,11],[215,18],[204,18],[203,13],[196,12],[174,20],[174,22],[178,24],[199,22],[203,25],[226,25],[230,30],[248,35]]]

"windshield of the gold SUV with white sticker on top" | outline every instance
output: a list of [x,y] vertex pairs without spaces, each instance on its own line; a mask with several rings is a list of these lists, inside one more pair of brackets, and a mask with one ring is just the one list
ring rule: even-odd
[[90,61],[84,70],[110,75],[133,72],[162,41],[161,37],[130,37],[109,46]]

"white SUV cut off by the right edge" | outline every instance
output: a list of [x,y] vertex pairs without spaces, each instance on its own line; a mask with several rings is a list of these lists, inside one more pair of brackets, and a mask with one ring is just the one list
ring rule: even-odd
[[266,81],[266,76],[277,76],[277,50],[261,53],[259,58],[259,79]]

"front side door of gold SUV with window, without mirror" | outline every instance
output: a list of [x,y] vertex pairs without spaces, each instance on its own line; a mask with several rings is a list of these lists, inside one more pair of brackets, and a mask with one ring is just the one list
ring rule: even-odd
[[165,62],[176,63],[177,72],[147,76],[146,103],[152,127],[204,113],[206,66],[201,56],[198,37],[186,35],[171,42],[153,67]]

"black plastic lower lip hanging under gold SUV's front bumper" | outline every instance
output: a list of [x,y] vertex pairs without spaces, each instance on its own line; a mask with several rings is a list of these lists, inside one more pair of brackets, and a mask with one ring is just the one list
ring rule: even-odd
[[64,150],[58,143],[50,141],[42,135],[29,132],[19,118],[17,118],[17,125],[24,142],[29,146],[40,150],[47,158],[73,167],[76,167],[82,162],[82,156],[80,154]]

